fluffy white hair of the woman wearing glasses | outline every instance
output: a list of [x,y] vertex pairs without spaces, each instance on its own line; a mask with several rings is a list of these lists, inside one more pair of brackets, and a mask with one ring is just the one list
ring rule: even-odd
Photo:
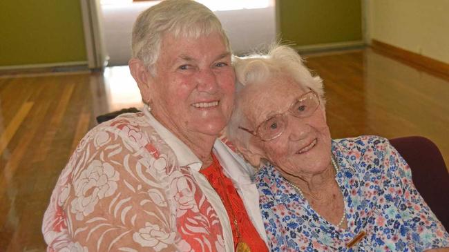
[[[275,44],[267,54],[253,54],[247,57],[234,57],[233,66],[236,70],[236,92],[245,86],[263,83],[273,75],[282,73],[292,77],[299,86],[313,90],[320,100],[321,108],[325,109],[323,80],[314,76],[303,63],[298,52],[289,46]],[[238,126],[247,125],[247,117],[240,106],[241,97],[236,95],[231,119],[227,125],[227,137],[234,144],[239,143],[247,148],[250,134],[243,133]]]

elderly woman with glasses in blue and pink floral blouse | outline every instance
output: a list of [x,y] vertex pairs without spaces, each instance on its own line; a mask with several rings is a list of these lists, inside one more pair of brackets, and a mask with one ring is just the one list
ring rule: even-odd
[[387,139],[331,139],[322,81],[292,48],[237,59],[235,69],[227,135],[260,166],[270,251],[449,251],[448,233]]

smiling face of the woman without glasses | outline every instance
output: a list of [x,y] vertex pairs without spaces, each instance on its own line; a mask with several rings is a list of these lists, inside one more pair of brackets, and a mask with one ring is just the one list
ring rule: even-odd
[[182,139],[216,137],[231,115],[235,82],[221,35],[164,35],[155,67],[151,113]]

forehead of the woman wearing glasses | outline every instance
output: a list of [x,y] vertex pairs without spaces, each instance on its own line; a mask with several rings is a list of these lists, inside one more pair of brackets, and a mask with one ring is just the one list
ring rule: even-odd
[[239,97],[243,113],[254,126],[271,115],[284,113],[307,90],[292,77],[276,75],[257,84],[249,84]]

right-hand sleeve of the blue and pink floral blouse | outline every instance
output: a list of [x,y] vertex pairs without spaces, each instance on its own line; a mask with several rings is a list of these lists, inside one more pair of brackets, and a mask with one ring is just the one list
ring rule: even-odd
[[399,230],[401,235],[407,234],[417,251],[449,246],[448,233],[414,187],[410,166],[393,146],[387,144],[385,162],[391,182],[386,190],[397,195],[394,203],[404,222]]

